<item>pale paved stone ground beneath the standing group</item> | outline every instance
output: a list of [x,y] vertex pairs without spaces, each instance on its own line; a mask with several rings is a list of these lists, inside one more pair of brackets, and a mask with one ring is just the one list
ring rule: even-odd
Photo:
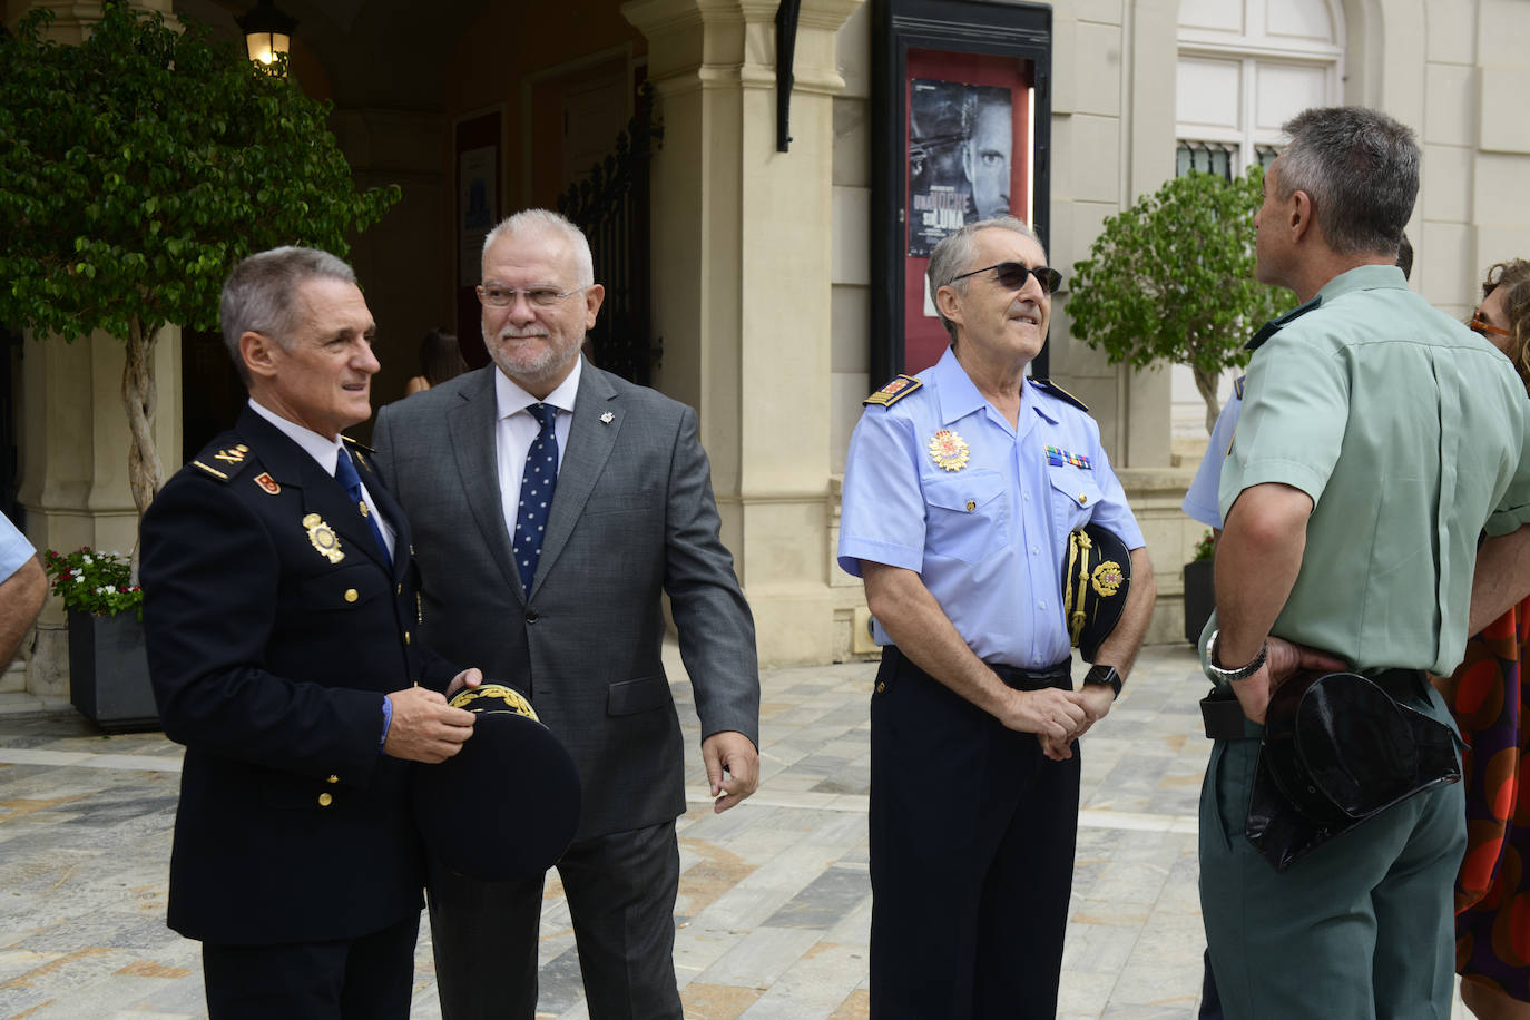
[[[688,762],[675,960],[692,1020],[868,1015],[874,673],[871,664],[768,671],[763,783],[731,812],[711,814],[699,755]],[[684,676],[678,658],[670,676]],[[1115,710],[1085,737],[1066,1020],[1195,1015],[1201,688],[1189,648],[1148,648]],[[675,693],[695,751],[690,688]],[[162,734],[106,737],[76,716],[15,714],[24,708],[35,700],[0,696],[0,1020],[205,1015],[197,945],[164,925],[181,749]],[[425,927],[413,1017],[439,1015]],[[539,1017],[586,1015],[554,878]]]

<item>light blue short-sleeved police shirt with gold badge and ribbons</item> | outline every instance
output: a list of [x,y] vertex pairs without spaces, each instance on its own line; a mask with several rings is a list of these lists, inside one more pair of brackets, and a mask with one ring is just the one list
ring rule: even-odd
[[[950,350],[920,379],[890,407],[868,407],[851,436],[840,567],[860,577],[869,560],[915,570],[984,662],[1062,662],[1071,651],[1062,612],[1068,532],[1092,520],[1128,549],[1144,544],[1099,425],[1027,379],[1011,428]],[[939,454],[947,463],[950,450],[968,450],[958,469],[930,451],[941,430],[955,433]],[[892,644],[881,624],[875,638]]]

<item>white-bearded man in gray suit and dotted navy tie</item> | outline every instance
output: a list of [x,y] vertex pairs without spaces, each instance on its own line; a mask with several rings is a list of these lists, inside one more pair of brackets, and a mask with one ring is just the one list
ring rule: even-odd
[[[684,746],[659,661],[661,593],[715,809],[753,794],[759,772],[754,624],[718,537],[696,413],[580,358],[604,289],[562,216],[500,223],[477,292],[494,364],[382,408],[373,433],[415,529],[421,636],[523,690],[578,765],[583,814],[558,875],[591,1017],[679,1018]],[[542,885],[431,867],[448,1020],[532,1015]]]

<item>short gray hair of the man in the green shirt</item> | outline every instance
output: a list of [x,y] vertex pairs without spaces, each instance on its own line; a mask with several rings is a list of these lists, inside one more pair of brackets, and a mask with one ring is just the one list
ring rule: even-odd
[[1323,240],[1340,255],[1397,252],[1418,197],[1414,132],[1365,107],[1314,107],[1281,128],[1279,199],[1305,191]]

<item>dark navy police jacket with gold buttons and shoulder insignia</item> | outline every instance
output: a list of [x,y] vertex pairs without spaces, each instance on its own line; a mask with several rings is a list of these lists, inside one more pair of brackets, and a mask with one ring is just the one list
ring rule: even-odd
[[168,918],[187,937],[350,939],[421,907],[382,696],[445,690],[457,668],[413,639],[409,523],[353,454],[393,563],[341,485],[248,407],[144,515],[150,674],[187,746]]

